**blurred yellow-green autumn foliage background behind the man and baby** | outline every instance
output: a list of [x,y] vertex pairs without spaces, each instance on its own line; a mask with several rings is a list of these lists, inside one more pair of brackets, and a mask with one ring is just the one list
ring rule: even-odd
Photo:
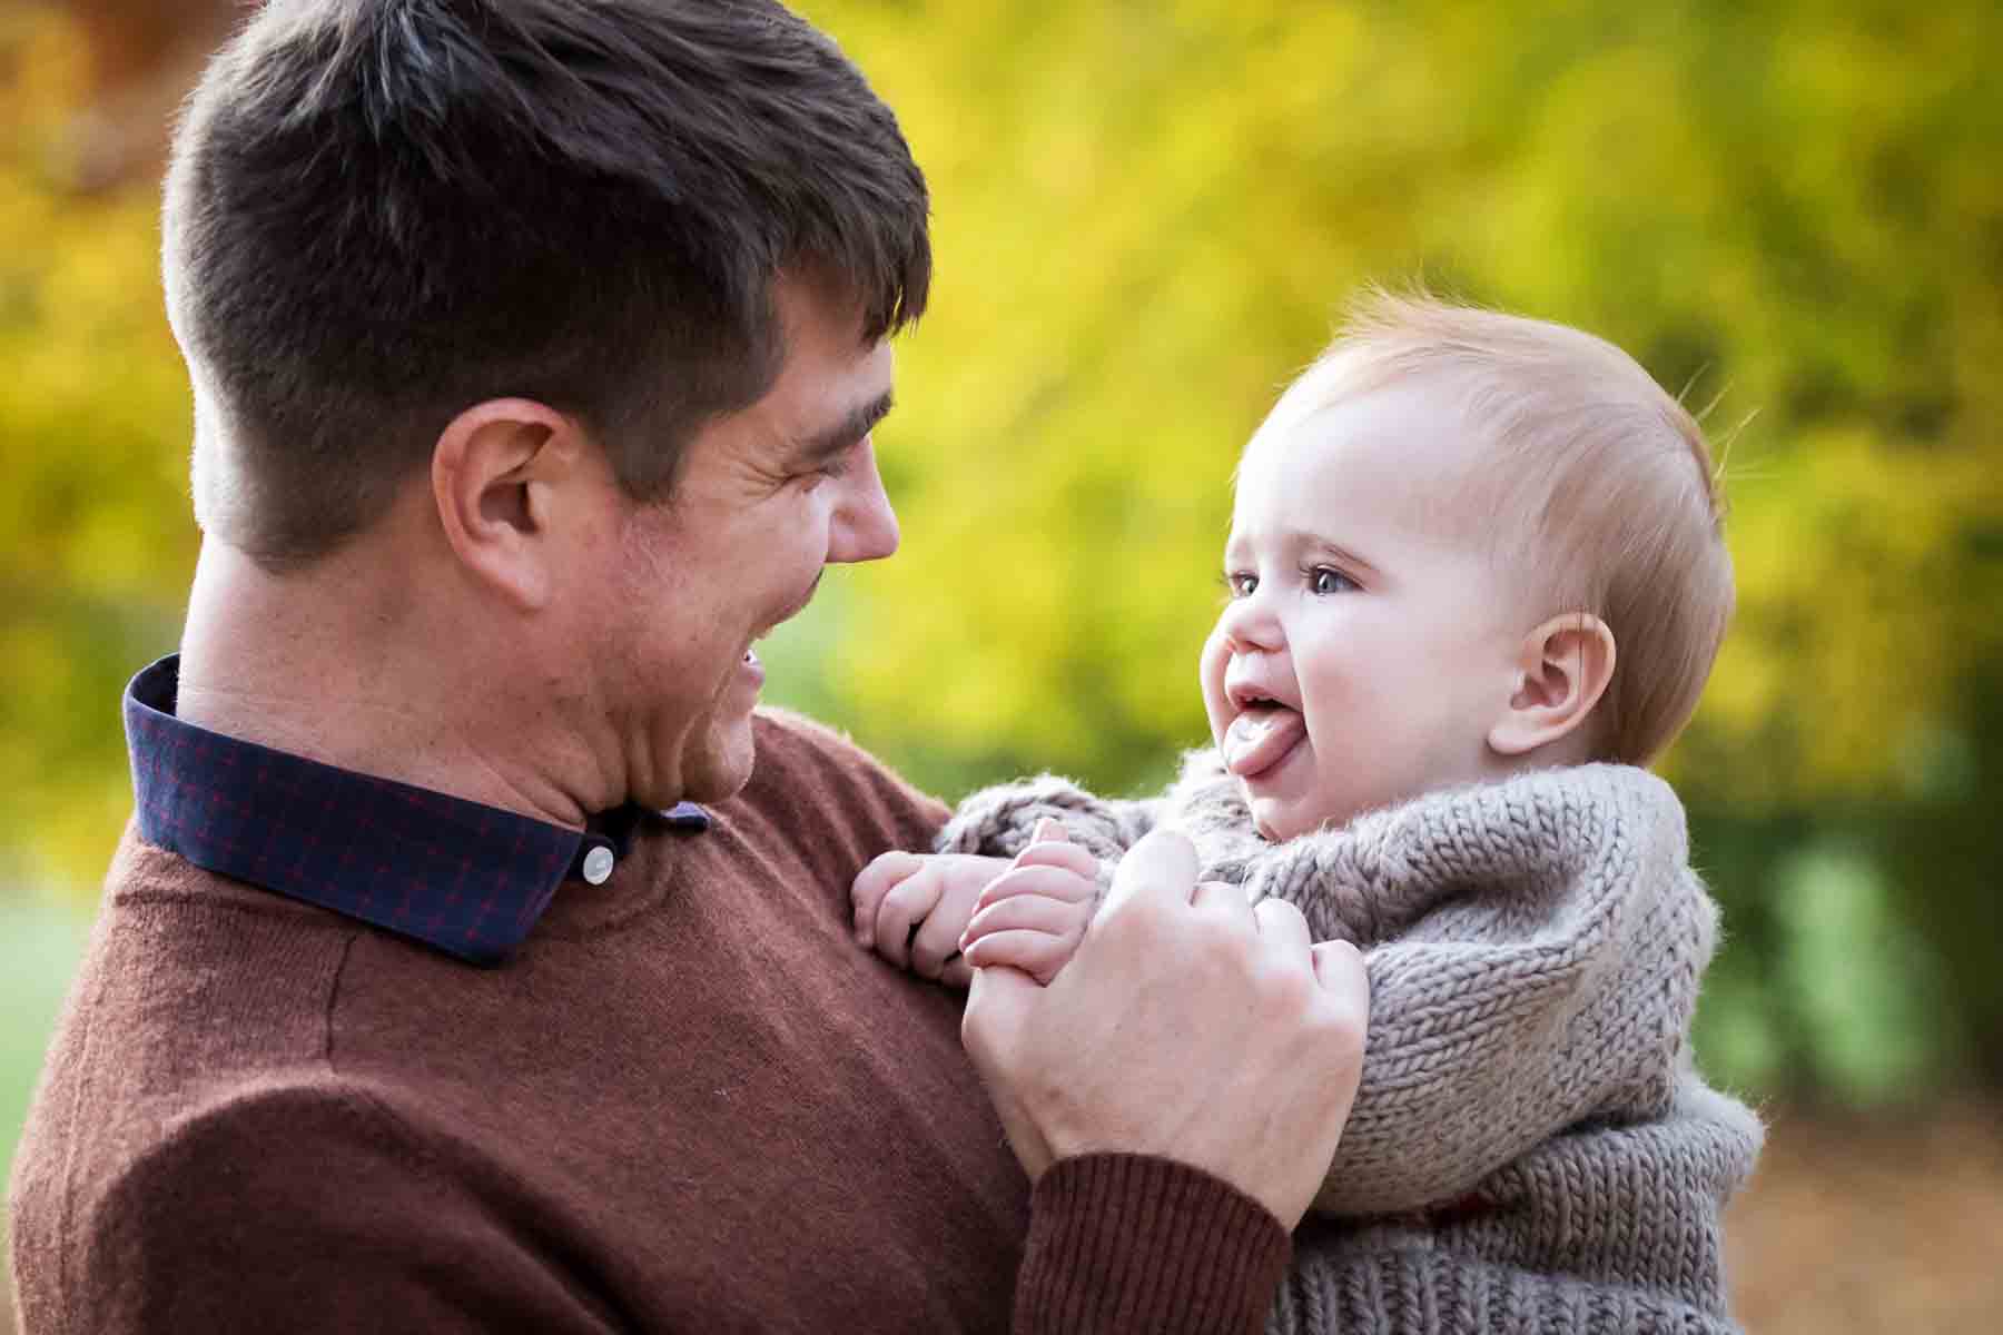
[[[809,0],[935,196],[879,432],[897,560],[769,697],[945,797],[1160,785],[1238,446],[1362,282],[1590,328],[1707,406],[1741,610],[1664,765],[1773,1139],[1753,1331],[1997,1329],[2003,6]],[[174,648],[190,406],[164,126],[240,6],[0,0],[0,1157]],[[0,1329],[8,1329],[0,1295]]]

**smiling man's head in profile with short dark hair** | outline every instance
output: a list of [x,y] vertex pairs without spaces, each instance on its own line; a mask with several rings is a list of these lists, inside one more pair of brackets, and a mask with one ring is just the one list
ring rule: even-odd
[[825,36],[769,0],[272,0],[164,232],[204,570],[258,590],[206,606],[367,664],[328,691],[523,809],[747,779],[751,642],[897,544],[871,428],[931,276],[923,176]]

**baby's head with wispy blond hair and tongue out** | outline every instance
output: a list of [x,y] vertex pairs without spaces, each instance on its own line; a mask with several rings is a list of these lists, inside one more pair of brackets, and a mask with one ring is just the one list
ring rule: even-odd
[[1246,446],[1226,580],[1204,701],[1274,837],[1524,765],[1646,765],[1733,606],[1703,434],[1632,358],[1386,294]]

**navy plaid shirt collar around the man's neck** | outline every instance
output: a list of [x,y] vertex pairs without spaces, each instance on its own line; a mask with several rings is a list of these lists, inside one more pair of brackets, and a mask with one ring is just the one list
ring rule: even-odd
[[[637,807],[589,831],[320,765],[174,717],[180,654],[126,687],[140,835],[196,867],[425,941],[477,965],[507,959],[567,879],[617,873]],[[659,813],[699,833],[693,803]]]

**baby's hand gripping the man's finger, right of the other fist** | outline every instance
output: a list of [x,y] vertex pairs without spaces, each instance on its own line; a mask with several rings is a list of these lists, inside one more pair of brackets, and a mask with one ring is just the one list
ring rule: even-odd
[[1100,863],[1044,821],[1008,875],[973,905],[959,957],[973,969],[1008,965],[1048,985],[1086,939],[1100,907]]

